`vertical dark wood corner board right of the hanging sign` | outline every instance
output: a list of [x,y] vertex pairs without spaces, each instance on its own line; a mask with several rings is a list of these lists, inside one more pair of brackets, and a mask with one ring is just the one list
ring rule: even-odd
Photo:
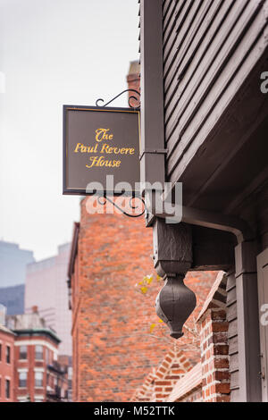
[[165,156],[144,153],[164,149],[163,130],[163,1],[140,1],[141,182],[165,181]]

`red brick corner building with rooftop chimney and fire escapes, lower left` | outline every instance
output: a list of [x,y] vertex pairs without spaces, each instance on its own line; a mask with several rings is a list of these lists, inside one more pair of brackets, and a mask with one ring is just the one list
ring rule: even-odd
[[13,337],[13,349],[10,344],[14,372],[11,399],[15,402],[67,401],[68,365],[58,359],[60,339],[46,327],[45,320],[38,315],[38,307],[32,310],[31,314],[8,316],[9,330],[4,329]]

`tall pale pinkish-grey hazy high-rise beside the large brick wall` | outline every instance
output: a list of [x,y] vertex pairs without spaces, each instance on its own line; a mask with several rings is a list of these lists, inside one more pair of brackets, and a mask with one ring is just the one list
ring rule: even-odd
[[46,325],[61,339],[59,353],[71,356],[71,310],[67,296],[67,265],[70,244],[58,248],[58,255],[27,267],[25,313],[38,306]]

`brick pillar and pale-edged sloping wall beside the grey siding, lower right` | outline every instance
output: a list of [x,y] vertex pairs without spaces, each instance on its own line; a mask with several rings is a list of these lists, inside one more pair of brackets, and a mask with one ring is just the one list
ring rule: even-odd
[[167,401],[230,402],[226,283],[220,272],[197,317],[200,362],[174,385]]

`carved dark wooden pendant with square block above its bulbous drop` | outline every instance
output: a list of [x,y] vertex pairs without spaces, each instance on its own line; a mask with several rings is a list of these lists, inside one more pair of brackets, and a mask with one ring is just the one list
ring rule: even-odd
[[167,224],[157,218],[154,224],[154,262],[164,285],[156,302],[156,314],[168,325],[171,336],[179,339],[182,326],[196,307],[197,299],[184,284],[192,265],[191,227],[185,223]]

